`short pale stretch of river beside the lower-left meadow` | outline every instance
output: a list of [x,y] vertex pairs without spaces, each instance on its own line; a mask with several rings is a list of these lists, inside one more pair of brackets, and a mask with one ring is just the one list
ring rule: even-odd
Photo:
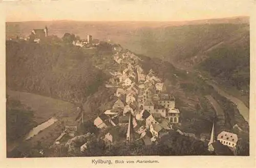
[[36,126],[35,128],[33,128],[28,133],[28,135],[25,137],[25,139],[28,140],[28,139],[32,138],[33,136],[37,135],[40,131],[46,129],[47,127],[50,127],[52,124],[54,124],[57,121],[58,121],[58,119],[56,119],[55,117],[50,118],[45,123],[42,123],[42,124]]

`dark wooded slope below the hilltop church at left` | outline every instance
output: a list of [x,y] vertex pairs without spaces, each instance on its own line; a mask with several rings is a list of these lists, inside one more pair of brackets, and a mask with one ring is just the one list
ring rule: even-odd
[[84,102],[106,79],[92,64],[95,51],[69,44],[6,42],[7,86],[48,97]]

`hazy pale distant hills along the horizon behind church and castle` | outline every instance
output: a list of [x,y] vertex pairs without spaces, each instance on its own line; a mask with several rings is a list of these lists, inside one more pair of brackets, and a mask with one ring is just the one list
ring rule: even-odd
[[82,38],[88,34],[101,40],[111,39],[115,43],[124,44],[133,36],[133,31],[144,28],[159,28],[169,26],[201,25],[216,23],[249,23],[249,17],[218,18],[193,21],[24,21],[6,22],[6,37],[28,36],[33,29],[43,29],[47,25],[49,35],[62,37],[66,32],[72,32]]

